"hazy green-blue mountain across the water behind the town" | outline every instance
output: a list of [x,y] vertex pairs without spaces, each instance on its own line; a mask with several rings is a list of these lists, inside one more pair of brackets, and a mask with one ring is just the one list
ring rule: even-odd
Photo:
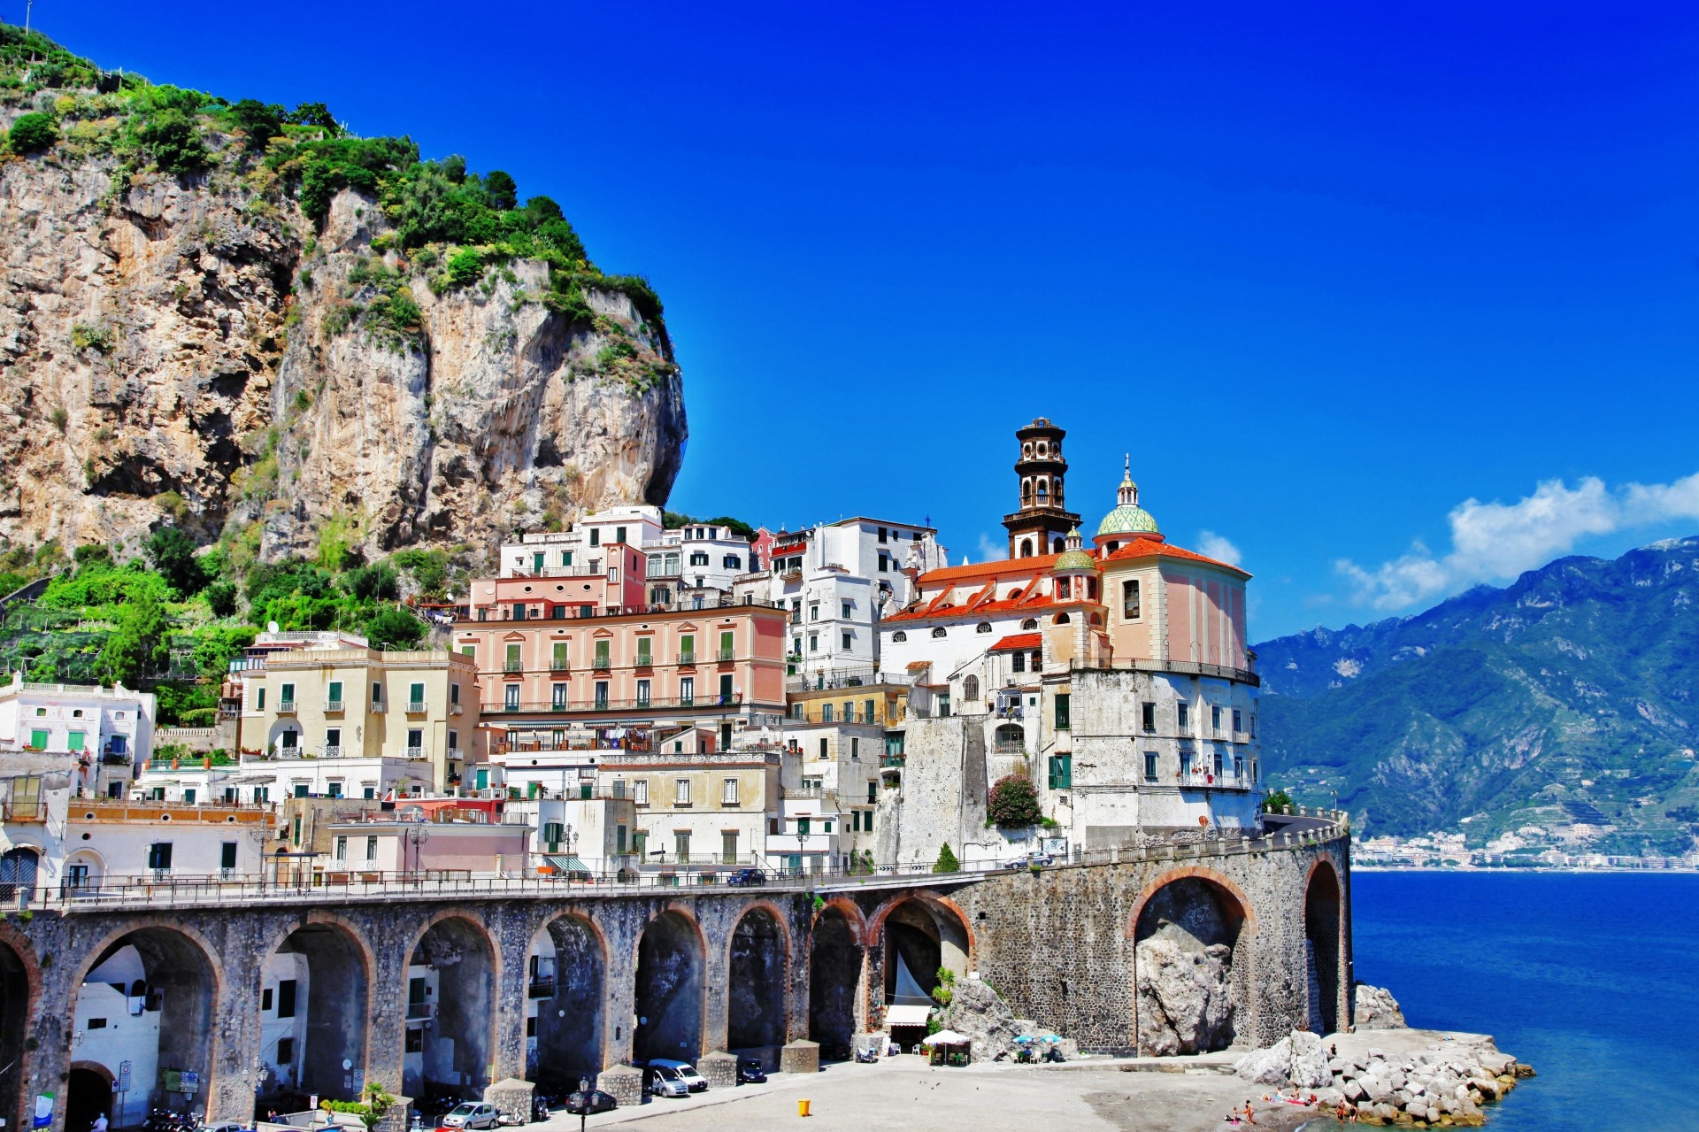
[[1256,651],[1267,780],[1337,790],[1368,835],[1606,823],[1604,852],[1699,836],[1699,537]]

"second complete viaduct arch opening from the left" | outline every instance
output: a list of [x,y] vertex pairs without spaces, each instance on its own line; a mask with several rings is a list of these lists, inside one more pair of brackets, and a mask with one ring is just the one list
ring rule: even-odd
[[[294,1110],[292,1098],[355,1100],[365,1084],[365,954],[341,926],[296,928],[265,960],[255,1113]],[[347,1066],[347,1067],[345,1067]]]

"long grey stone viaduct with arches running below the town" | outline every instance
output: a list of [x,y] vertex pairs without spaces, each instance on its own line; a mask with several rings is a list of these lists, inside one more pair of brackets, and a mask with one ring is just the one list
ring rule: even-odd
[[[279,950],[311,971],[302,1083],[331,1098],[364,1081],[406,1093],[420,964],[440,977],[426,1040],[452,1040],[462,1096],[503,1079],[566,1091],[581,1074],[629,1095],[627,1066],[663,1056],[729,1083],[731,1050],[805,1071],[816,1044],[836,1054],[882,1027],[899,952],[921,979],[934,964],[977,972],[1016,1016],[1082,1049],[1166,1052],[1160,1035],[1184,1023],[1140,962],[1145,940],[1172,937],[1223,971],[1230,1032],[1210,1040],[1261,1045],[1349,1023],[1349,831],[1317,821],[1040,872],[49,901],[0,923],[0,1115],[29,1127],[51,1093],[63,1132],[80,1093],[85,1110],[100,1105],[88,1093],[110,1098],[110,1073],[76,1059],[73,1015],[87,974],[126,945],[146,1008],[161,1011],[161,1069],[199,1074],[190,1103],[216,1120],[253,1117],[262,971]],[[533,976],[540,954],[556,959],[547,982]]]

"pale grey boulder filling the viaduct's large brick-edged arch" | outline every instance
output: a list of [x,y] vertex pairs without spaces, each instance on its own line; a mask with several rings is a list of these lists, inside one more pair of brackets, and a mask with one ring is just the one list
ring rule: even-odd
[[1135,962],[1142,1054],[1199,1054],[1232,1044],[1232,948],[1193,948],[1159,935],[1138,943]]

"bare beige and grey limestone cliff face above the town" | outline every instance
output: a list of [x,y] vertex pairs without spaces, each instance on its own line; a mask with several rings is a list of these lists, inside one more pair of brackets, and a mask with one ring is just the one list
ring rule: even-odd
[[[666,501],[681,382],[624,294],[574,321],[513,263],[433,296],[372,252],[386,221],[353,192],[318,233],[226,172],[114,172],[0,165],[0,535],[134,549],[170,513],[200,539],[262,524],[268,558],[331,520],[367,552],[483,551],[542,513]],[[409,333],[350,320],[379,297],[350,270],[379,262]]]

